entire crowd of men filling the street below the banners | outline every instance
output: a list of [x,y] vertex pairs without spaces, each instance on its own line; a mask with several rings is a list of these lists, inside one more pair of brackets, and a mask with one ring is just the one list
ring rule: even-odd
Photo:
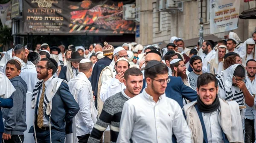
[[256,32],[186,48],[23,45],[0,60],[2,143],[254,143]]

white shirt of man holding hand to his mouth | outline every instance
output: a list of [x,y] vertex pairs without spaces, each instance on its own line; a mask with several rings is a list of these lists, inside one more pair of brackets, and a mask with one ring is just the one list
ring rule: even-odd
[[121,83],[118,79],[113,78],[107,81],[104,81],[100,89],[100,98],[103,102],[108,99],[110,96],[121,92],[125,89],[125,84]]

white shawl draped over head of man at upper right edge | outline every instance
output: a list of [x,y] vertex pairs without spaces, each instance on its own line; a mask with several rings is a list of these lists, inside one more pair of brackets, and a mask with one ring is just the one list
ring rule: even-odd
[[[246,62],[249,59],[253,59],[253,55],[254,55],[254,59],[256,58],[256,52],[252,52],[250,54],[247,54],[247,44],[254,44],[255,45],[255,42],[254,42],[254,40],[252,38],[249,38],[241,46],[241,52],[239,52],[239,55],[241,56],[242,64],[244,66],[246,66]],[[254,48],[255,47],[256,47],[256,45],[254,46]],[[255,49],[253,49],[253,51],[255,51]]]

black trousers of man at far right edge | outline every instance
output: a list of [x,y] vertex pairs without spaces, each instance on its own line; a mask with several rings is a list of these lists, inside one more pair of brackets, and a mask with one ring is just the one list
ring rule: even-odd
[[245,119],[244,128],[245,128],[245,143],[254,143],[255,141],[254,121],[250,119]]

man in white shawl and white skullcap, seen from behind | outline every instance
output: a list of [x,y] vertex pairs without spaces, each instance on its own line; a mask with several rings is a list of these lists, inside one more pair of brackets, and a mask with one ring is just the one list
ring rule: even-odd
[[93,90],[88,80],[93,72],[92,67],[90,59],[82,59],[79,64],[79,74],[68,82],[70,93],[79,104],[80,110],[73,119],[73,135],[67,135],[66,143],[87,143],[97,121],[98,111],[94,105]]

